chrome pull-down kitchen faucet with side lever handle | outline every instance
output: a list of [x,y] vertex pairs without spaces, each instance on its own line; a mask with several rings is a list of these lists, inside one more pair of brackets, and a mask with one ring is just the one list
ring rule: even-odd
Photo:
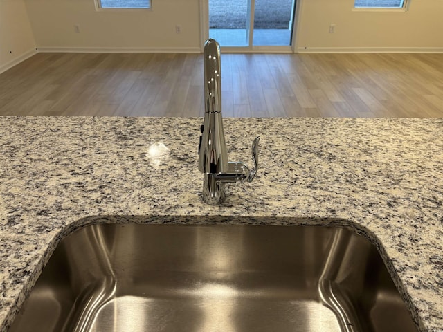
[[201,126],[199,145],[199,171],[203,172],[203,201],[210,205],[223,203],[226,183],[253,181],[258,169],[258,142],[252,144],[254,168],[240,162],[228,161],[221,118],[221,65],[220,46],[208,39],[204,47],[205,116]]

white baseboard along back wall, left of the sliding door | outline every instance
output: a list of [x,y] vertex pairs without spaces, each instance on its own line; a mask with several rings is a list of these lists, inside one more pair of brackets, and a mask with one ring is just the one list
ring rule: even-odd
[[38,47],[42,53],[201,53],[199,47]]

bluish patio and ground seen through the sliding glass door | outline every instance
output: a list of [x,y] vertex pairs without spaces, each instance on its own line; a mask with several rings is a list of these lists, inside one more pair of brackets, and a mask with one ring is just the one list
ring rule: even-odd
[[296,0],[209,0],[209,37],[221,46],[291,46]]

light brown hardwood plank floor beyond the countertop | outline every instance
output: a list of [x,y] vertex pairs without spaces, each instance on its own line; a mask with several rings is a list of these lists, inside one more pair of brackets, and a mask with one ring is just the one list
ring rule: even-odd
[[[443,117],[443,54],[222,54],[225,117]],[[200,54],[38,53],[0,115],[203,116]]]

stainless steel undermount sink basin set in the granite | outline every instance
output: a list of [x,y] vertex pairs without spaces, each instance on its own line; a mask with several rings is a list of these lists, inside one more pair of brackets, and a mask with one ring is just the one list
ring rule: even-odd
[[323,226],[91,225],[10,331],[417,331],[375,246]]

